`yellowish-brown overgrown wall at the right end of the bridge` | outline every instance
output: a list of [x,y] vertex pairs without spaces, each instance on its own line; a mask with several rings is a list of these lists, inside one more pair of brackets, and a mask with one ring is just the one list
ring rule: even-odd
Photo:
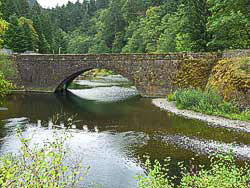
[[225,100],[235,100],[242,108],[250,108],[250,58],[239,57],[217,62],[206,87],[219,91]]

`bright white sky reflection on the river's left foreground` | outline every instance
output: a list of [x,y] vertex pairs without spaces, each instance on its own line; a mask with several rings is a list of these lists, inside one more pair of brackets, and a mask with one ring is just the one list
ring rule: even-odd
[[[62,130],[56,130],[60,134]],[[31,145],[42,145],[51,140],[55,130],[44,127],[27,125],[23,132],[24,137],[32,139]],[[112,188],[120,185],[121,188],[137,187],[133,178],[137,174],[144,173],[135,160],[128,157],[126,150],[128,145],[143,144],[147,137],[144,133],[117,133],[110,132],[84,132],[71,130],[71,138],[65,147],[70,148],[70,159],[82,161],[84,167],[90,166],[88,176],[84,180],[84,186],[92,182],[101,184],[102,187]],[[127,137],[130,139],[127,139]],[[1,153],[12,152],[18,154],[19,140],[14,134],[4,138]],[[87,186],[88,187],[88,186]]]

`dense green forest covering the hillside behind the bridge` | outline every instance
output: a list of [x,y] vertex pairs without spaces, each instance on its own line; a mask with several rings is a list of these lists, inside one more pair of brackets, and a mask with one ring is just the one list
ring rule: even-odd
[[250,48],[249,0],[1,3],[0,43],[15,52],[162,53]]

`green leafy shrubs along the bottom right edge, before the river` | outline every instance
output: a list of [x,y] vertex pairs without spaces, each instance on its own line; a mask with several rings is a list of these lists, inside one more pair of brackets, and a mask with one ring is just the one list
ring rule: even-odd
[[199,167],[199,171],[194,172],[190,166],[190,170],[184,167],[183,163],[179,163],[182,170],[180,183],[173,185],[173,179],[169,178],[168,164],[169,159],[165,161],[165,165],[161,165],[159,161],[155,161],[151,165],[150,160],[146,161],[147,176],[139,175],[136,177],[139,188],[234,188],[249,187],[250,169],[246,163],[243,167],[238,167],[233,154],[216,154],[210,157],[211,164],[208,168]]

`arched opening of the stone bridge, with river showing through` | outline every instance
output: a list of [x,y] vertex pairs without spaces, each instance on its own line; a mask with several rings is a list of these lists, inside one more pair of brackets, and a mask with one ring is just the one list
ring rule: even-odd
[[66,91],[85,100],[114,102],[140,96],[133,82],[107,69],[85,69],[66,78],[56,92]]

